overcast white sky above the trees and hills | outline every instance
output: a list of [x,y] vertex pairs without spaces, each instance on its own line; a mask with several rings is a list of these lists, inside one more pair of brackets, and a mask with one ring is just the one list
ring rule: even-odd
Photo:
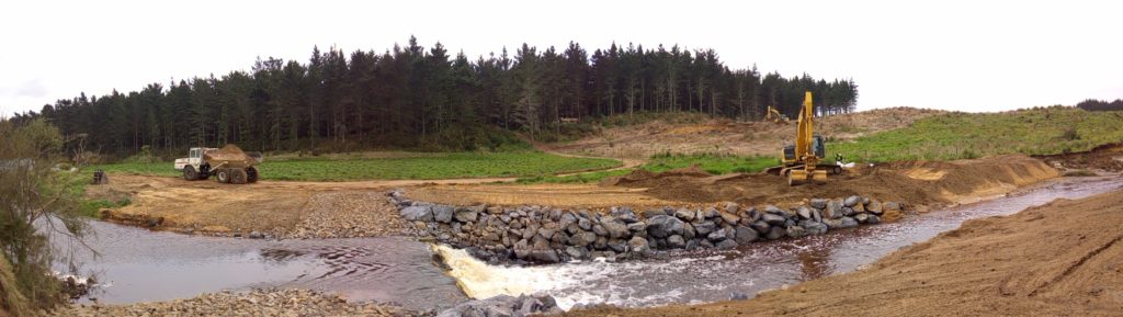
[[731,69],[852,78],[859,109],[996,111],[1123,98],[1120,1],[4,1],[0,114],[80,92],[382,52],[522,43],[712,47]]

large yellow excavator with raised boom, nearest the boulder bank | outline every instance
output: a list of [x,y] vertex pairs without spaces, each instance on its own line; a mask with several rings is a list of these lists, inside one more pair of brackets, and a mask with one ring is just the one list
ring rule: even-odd
[[828,173],[839,174],[842,172],[842,166],[824,162],[827,144],[822,136],[815,134],[814,117],[811,91],[807,91],[803,99],[803,108],[800,109],[800,125],[796,128],[795,144],[784,146],[779,156],[780,165],[766,169],[766,173],[785,175],[788,185],[797,185],[809,180],[824,183]]

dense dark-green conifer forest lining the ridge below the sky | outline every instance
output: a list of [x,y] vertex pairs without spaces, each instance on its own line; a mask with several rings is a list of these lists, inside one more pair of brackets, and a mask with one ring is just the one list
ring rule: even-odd
[[238,143],[255,150],[474,148],[496,129],[531,137],[574,120],[642,111],[695,111],[751,120],[767,105],[794,117],[803,92],[819,115],[852,111],[851,80],[784,78],[722,64],[713,49],[620,47],[590,54],[523,44],[475,61],[410,38],[383,53],[313,48],[307,63],[266,58],[247,73],[85,93],[16,120],[46,117],[91,148],[135,153]]

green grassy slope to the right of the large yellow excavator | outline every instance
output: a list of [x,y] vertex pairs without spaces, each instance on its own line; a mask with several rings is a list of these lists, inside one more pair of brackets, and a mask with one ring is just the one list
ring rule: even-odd
[[950,112],[850,142],[828,142],[828,158],[950,161],[994,154],[1058,154],[1123,141],[1123,114],[1038,108],[998,114]]

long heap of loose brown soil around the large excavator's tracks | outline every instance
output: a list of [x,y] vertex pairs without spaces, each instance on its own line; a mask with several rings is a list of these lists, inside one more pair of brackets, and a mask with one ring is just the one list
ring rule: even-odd
[[832,176],[825,184],[789,187],[779,175],[741,174],[700,178],[697,175],[649,175],[620,181],[628,188],[646,188],[645,193],[663,200],[743,205],[795,203],[803,199],[877,197],[913,205],[966,202],[1001,194],[1058,175],[1041,161],[1003,155],[956,162],[900,162],[862,166]]

